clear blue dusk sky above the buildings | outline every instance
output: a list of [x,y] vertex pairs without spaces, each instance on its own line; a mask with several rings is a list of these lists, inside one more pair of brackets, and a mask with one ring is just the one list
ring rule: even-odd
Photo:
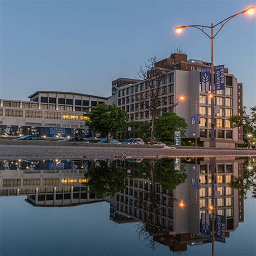
[[[211,60],[203,33],[179,25],[211,25],[256,1],[0,0],[0,98],[37,90],[110,96],[111,81],[138,77],[140,65],[174,49]],[[214,64],[225,64],[255,105],[256,15],[235,17],[214,39]]]

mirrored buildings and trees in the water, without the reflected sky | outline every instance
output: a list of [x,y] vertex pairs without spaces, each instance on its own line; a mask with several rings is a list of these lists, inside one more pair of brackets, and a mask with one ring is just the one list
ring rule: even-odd
[[[254,164],[253,158],[215,160],[215,207],[225,215],[227,238],[244,221],[246,191],[254,186],[255,192]],[[37,207],[107,201],[110,220],[134,222],[152,249],[158,242],[180,252],[211,242],[200,235],[201,213],[211,212],[211,170],[210,158],[5,160],[0,196],[25,195]]]

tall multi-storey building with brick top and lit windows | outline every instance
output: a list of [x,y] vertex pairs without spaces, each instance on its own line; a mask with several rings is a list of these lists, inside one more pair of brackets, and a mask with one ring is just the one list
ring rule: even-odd
[[[156,65],[170,69],[169,75],[161,82],[161,105],[157,109],[157,117],[164,112],[176,112],[185,118],[188,124],[186,139],[198,138],[198,145],[209,146],[211,136],[211,99],[208,92],[201,89],[200,69],[208,67],[210,63],[189,59],[187,55],[173,53],[170,58],[160,60]],[[215,103],[219,107],[215,119],[215,135],[217,146],[235,147],[242,144],[242,127],[233,128],[228,120],[238,114],[242,108],[242,84],[225,68],[225,90],[218,90]],[[119,87],[117,90],[117,106],[127,112],[130,121],[151,120],[150,111],[140,102],[146,100],[149,89],[140,81]],[[179,97],[187,97],[185,102],[179,102]],[[191,98],[191,99],[188,99]],[[196,100],[199,99],[197,113],[201,114],[200,125],[191,124],[191,115],[196,113]],[[177,105],[176,105],[177,104]],[[174,106],[173,106],[174,105]]]

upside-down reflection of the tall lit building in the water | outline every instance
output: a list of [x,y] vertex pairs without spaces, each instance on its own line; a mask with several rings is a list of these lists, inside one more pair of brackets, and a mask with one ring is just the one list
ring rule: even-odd
[[[110,219],[122,223],[120,216],[123,216],[126,219],[123,222],[141,222],[139,235],[149,233],[153,241],[176,252],[186,251],[187,245],[211,242],[200,235],[201,213],[211,213],[208,210],[212,204],[210,158],[196,161],[188,159],[185,163],[187,179],[173,191],[164,190],[163,186],[153,184],[150,179],[127,179],[125,190],[107,199]],[[242,159],[219,158],[216,162],[215,191],[219,191],[216,212],[225,215],[226,237],[244,221],[244,198],[239,190],[230,186],[233,177],[242,178],[243,166]],[[192,179],[196,183],[200,179],[199,189],[197,184],[192,186]],[[180,201],[185,204],[182,208]]]

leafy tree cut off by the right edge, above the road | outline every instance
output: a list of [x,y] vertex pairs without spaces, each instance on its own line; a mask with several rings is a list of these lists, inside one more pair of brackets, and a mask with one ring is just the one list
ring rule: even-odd
[[243,107],[238,114],[230,117],[230,121],[233,127],[242,126],[244,130],[244,141],[250,145],[252,137],[248,137],[248,134],[256,136],[256,106],[250,107],[251,113],[247,113],[247,107]]

